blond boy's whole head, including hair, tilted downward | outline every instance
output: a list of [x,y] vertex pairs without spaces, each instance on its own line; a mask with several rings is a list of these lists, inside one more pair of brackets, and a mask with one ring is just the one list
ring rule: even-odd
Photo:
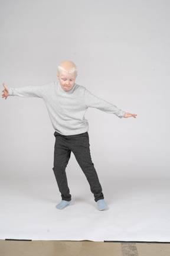
[[77,78],[77,67],[74,62],[64,60],[58,65],[58,80],[64,91],[70,91],[73,88]]

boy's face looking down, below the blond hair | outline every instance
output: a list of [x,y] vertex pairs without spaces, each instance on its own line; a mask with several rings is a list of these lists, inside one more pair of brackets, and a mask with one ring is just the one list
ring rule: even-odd
[[74,83],[76,81],[77,73],[67,73],[65,71],[60,71],[60,73],[57,74],[57,77],[64,91],[70,91],[70,89],[73,88]]

